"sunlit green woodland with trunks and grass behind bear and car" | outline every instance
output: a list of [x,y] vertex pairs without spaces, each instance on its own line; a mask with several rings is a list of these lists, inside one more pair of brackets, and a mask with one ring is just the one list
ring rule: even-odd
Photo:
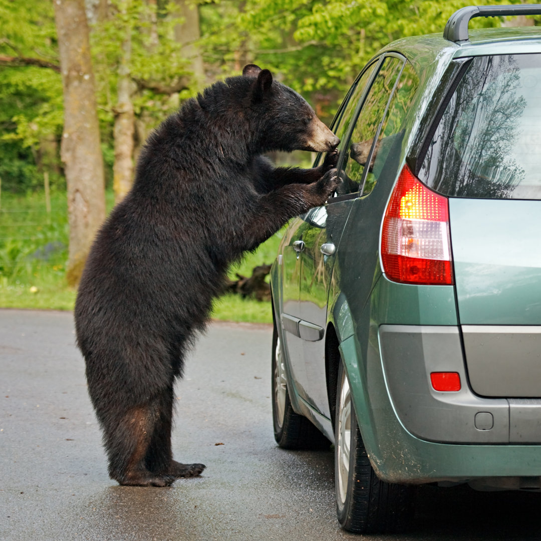
[[[129,189],[146,137],[206,85],[257,63],[328,125],[380,47],[443,32],[472,3],[0,0],[0,306],[72,309],[91,239]],[[471,26],[540,23],[476,18]],[[273,158],[305,167],[312,159]],[[271,263],[279,237],[232,278]],[[268,302],[226,295],[214,317],[272,315]]]

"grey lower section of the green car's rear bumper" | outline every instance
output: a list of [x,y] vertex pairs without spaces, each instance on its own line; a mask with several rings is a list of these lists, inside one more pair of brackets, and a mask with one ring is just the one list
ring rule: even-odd
[[[471,390],[458,327],[381,325],[379,346],[394,411],[414,436],[439,443],[541,444],[541,400],[483,398]],[[457,372],[460,391],[435,391],[432,372]],[[489,380],[490,374],[486,362]]]

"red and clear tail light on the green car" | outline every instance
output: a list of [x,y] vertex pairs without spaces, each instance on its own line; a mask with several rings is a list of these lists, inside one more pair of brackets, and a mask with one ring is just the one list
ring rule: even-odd
[[447,198],[428,189],[406,165],[388,203],[381,259],[395,282],[452,284]]

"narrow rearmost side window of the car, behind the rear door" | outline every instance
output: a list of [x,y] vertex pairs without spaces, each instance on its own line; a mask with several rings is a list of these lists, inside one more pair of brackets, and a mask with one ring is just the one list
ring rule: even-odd
[[[378,141],[374,146],[370,160],[371,166],[366,174],[364,186],[362,188],[362,195],[367,195],[372,192],[391,153],[396,154],[399,152],[400,143],[404,135],[403,131],[400,131],[400,128],[402,127],[406,113],[411,107],[418,87],[419,78],[413,70],[412,65],[406,63],[400,74],[400,80],[396,85],[391,101],[388,104],[385,118],[381,124]],[[350,160],[350,162],[351,165],[348,163],[350,171],[349,175],[358,174],[357,171],[354,173],[354,169],[355,167],[359,167],[359,165],[353,160]],[[346,168],[346,173],[348,173],[348,168]]]

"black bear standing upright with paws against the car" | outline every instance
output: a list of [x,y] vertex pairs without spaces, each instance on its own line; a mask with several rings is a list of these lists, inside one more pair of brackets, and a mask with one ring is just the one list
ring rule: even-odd
[[[336,137],[306,101],[249,64],[149,137],[135,181],[98,233],[75,305],[77,344],[109,475],[169,486],[199,475],[171,451],[173,384],[228,265],[337,186]],[[313,169],[271,150],[330,151]]]

